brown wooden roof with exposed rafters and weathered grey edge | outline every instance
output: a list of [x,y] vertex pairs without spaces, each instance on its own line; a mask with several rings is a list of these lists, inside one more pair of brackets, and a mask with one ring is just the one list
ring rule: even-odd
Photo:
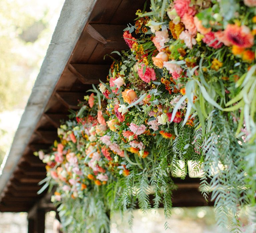
[[[38,182],[46,177],[45,164],[33,152],[48,149],[68,110],[77,110],[91,84],[106,79],[112,60],[104,60],[104,55],[128,49],[123,29],[143,6],[144,0],[65,2],[0,176],[1,212],[28,212],[45,194],[37,195]],[[174,206],[206,205],[198,179],[177,183]]]

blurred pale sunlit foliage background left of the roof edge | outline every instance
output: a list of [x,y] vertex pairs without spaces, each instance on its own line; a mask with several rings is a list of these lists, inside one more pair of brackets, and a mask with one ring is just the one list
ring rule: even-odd
[[63,3],[0,1],[0,164],[12,143]]

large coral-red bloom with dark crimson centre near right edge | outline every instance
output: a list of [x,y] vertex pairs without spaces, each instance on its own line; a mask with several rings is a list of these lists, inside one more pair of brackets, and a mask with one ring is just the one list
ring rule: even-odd
[[224,32],[232,45],[240,48],[250,48],[253,45],[254,36],[246,26],[239,27],[236,24],[228,24]]

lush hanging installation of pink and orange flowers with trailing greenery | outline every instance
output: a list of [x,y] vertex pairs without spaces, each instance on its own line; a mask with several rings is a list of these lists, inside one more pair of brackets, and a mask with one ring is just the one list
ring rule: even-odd
[[255,205],[255,6],[163,0],[137,11],[130,50],[114,52],[108,81],[38,152],[69,232],[108,231],[110,210],[149,209],[149,194],[170,217],[172,175],[184,178],[189,160],[217,223],[239,229],[240,208]]

